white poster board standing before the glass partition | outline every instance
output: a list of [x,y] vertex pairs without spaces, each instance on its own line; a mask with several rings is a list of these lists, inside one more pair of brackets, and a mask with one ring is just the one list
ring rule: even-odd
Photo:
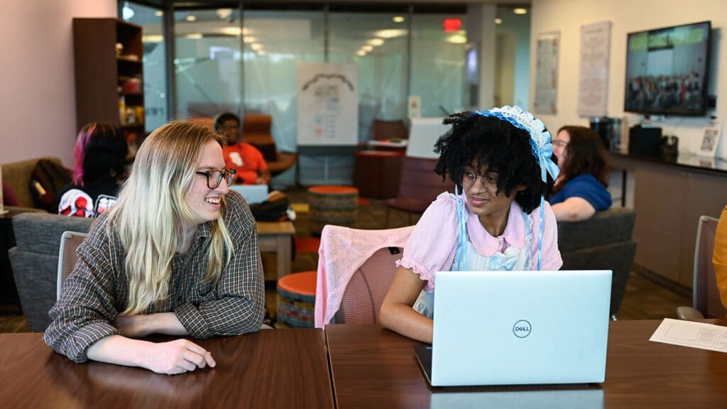
[[358,143],[358,66],[298,63],[298,145]]

